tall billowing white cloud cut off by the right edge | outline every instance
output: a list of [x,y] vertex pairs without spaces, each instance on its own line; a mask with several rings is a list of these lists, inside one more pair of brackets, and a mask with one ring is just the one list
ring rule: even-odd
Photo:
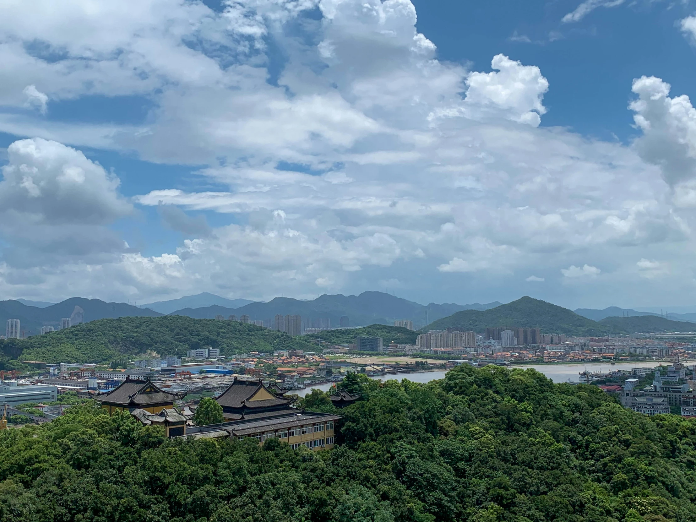
[[696,109],[687,95],[670,98],[670,84],[660,78],[633,81],[638,99],[630,104],[633,120],[642,131],[635,141],[640,156],[660,167],[679,205],[693,205],[696,178]]

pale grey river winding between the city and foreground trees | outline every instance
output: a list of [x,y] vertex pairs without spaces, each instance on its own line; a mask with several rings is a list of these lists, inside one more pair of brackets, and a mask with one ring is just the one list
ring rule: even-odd
[[[630,370],[635,367],[654,367],[660,365],[660,361],[635,361],[633,363],[576,363],[576,364],[533,364],[533,365],[518,365],[521,368],[534,368],[537,372],[541,372],[553,382],[566,382],[570,379],[573,382],[578,382],[578,374],[580,372],[612,372],[613,370]],[[429,382],[436,379],[443,379],[445,370],[435,372],[414,372],[396,375],[378,375],[371,379],[384,381],[386,379],[409,379],[412,382]],[[322,391],[327,391],[331,388],[331,383],[320,384],[312,388],[304,388],[303,390],[295,390],[291,393],[296,393],[300,397],[310,393],[311,390],[317,388]]]

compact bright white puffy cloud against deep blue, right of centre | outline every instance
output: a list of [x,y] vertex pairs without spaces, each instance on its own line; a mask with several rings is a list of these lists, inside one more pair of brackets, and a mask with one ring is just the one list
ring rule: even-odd
[[493,72],[472,72],[466,79],[466,113],[471,118],[486,116],[539,127],[546,107],[541,103],[548,81],[535,65],[522,65],[498,54],[491,61]]

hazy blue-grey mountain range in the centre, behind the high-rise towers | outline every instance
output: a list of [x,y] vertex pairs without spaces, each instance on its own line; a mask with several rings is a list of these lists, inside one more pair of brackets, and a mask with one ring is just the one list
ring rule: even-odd
[[459,310],[488,310],[500,306],[493,303],[473,303],[459,305],[454,303],[430,303],[422,305],[384,292],[363,292],[355,296],[342,294],[324,294],[312,301],[301,301],[290,297],[276,297],[268,303],[249,303],[239,308],[225,306],[206,306],[203,308],[184,308],[171,315],[186,315],[196,319],[214,319],[217,315],[227,318],[230,315],[248,315],[251,321],[260,320],[264,324],[271,322],[276,314],[301,315],[303,322],[309,324],[314,319],[319,324],[331,322],[339,326],[340,318],[347,316],[350,326],[367,326],[369,324],[393,324],[395,319],[410,319],[417,328],[428,321],[447,317]]

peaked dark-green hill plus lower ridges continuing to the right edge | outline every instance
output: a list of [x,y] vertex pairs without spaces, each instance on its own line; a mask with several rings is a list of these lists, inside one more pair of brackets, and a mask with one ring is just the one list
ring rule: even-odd
[[[619,310],[621,310],[619,308]],[[603,310],[596,310],[603,311]],[[524,296],[489,310],[464,310],[429,324],[424,330],[460,328],[483,333],[487,328],[539,328],[541,333],[598,336],[622,333],[696,332],[696,323],[672,321],[657,315],[604,317],[599,321],[546,301]]]

